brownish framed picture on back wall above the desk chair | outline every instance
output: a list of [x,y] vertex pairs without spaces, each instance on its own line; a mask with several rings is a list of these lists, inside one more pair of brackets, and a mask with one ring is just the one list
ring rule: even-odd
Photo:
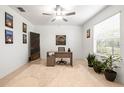
[[56,35],[56,45],[66,45],[66,35]]

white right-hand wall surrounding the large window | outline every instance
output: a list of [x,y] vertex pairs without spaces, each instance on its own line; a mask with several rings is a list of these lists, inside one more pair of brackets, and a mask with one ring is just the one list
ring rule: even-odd
[[[93,53],[93,26],[112,15],[121,12],[120,18],[120,33],[121,33],[121,57],[124,59],[124,6],[109,6],[108,8],[101,11],[91,20],[83,25],[83,57],[86,58],[88,53]],[[86,38],[86,30],[91,29],[91,38]],[[120,69],[118,69],[117,81],[124,83],[124,62],[120,63]]]

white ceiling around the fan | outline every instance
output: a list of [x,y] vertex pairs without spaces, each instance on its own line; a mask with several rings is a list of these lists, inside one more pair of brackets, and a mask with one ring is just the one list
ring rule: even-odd
[[[56,5],[55,5],[56,6]],[[54,13],[53,6],[46,5],[10,5],[10,7],[16,10],[23,17],[28,19],[34,25],[83,25],[88,19],[96,15],[102,9],[104,9],[105,5],[76,5],[67,7],[68,12],[76,12],[76,15],[65,17],[68,22],[64,22],[63,20],[56,20],[55,22],[51,22],[54,16],[50,15],[42,15],[43,12]],[[22,7],[26,12],[20,12],[17,7]],[[64,7],[64,6],[63,6]]]

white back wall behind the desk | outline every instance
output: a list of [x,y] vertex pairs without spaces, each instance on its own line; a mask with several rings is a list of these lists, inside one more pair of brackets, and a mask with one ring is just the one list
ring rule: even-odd
[[66,35],[66,51],[71,48],[73,57],[82,58],[82,31],[78,26],[35,26],[36,32],[40,33],[41,58],[46,59],[47,51],[58,51],[56,46],[56,35]]

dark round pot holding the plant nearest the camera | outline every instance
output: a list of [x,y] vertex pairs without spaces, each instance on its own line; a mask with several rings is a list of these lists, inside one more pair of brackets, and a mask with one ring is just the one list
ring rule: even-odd
[[114,81],[116,76],[117,76],[117,72],[113,71],[113,70],[109,70],[106,69],[104,72],[105,78],[109,81]]

